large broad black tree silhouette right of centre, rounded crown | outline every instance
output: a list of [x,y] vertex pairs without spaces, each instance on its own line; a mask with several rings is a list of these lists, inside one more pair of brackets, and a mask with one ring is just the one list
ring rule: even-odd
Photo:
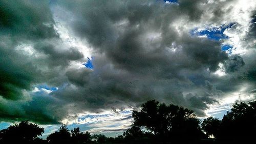
[[195,141],[204,136],[193,110],[151,100],[133,111],[134,125],[145,127],[162,141]]

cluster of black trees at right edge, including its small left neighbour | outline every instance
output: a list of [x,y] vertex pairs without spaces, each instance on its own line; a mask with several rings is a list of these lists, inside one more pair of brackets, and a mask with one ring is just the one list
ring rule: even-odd
[[256,143],[256,101],[235,103],[222,120],[207,118],[202,128],[220,142]]

